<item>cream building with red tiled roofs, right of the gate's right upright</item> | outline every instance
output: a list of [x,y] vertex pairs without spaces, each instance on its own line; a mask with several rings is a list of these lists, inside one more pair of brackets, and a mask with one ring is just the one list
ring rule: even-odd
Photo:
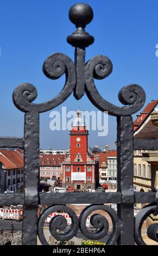
[[[158,139],[158,127],[151,122],[151,113],[157,109],[158,100],[153,100],[143,111],[137,115],[134,121],[135,139]],[[134,190],[148,192],[151,191],[151,166],[143,160],[144,153],[151,150],[134,150]],[[157,159],[158,161],[158,159]]]

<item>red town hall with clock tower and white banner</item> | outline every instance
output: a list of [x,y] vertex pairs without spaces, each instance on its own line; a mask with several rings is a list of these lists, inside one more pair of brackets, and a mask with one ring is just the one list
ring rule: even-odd
[[74,191],[96,189],[99,185],[98,155],[92,154],[87,144],[89,131],[77,111],[70,131],[70,154],[66,156],[63,167],[62,186],[71,186]]

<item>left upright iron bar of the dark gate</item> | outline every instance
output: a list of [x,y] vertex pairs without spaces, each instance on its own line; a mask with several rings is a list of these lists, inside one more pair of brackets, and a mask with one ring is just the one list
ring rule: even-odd
[[25,114],[24,177],[22,243],[36,245],[39,185],[39,113],[36,112]]

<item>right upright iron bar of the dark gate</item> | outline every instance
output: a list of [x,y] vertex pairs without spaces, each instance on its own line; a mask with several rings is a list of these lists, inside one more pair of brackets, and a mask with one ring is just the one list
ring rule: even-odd
[[121,204],[117,205],[121,220],[119,245],[134,245],[134,189],[133,189],[133,122],[132,117],[117,117],[117,190]]

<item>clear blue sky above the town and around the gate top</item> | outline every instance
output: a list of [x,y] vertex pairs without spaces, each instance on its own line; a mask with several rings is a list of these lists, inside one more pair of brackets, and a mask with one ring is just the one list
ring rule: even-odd
[[[52,53],[62,52],[74,59],[74,47],[66,42],[74,32],[68,19],[75,0],[5,0],[0,14],[0,136],[23,136],[24,114],[12,103],[12,92],[21,83],[30,82],[38,91],[36,102],[44,102],[58,94],[64,84],[49,80],[42,72],[43,61]],[[158,99],[158,2],[157,0],[85,0],[94,11],[94,19],[86,31],[94,36],[94,44],[86,50],[86,60],[104,54],[113,63],[113,72],[105,80],[96,81],[100,94],[121,106],[118,92],[131,83],[140,84],[147,94],[146,104]],[[69,97],[63,106],[68,110],[97,110],[86,95],[79,101]],[[61,111],[61,106],[56,108]],[[68,148],[68,131],[49,130],[49,112],[41,114],[40,147]],[[89,145],[113,143],[116,140],[116,118],[109,118],[109,133],[98,137],[90,131]]]

